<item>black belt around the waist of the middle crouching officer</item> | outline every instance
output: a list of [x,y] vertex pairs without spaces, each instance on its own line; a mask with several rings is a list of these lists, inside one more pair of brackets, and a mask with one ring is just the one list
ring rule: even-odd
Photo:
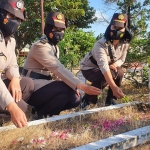
[[[22,70],[22,75],[26,76],[27,73],[28,73],[27,69]],[[40,74],[40,73],[37,73],[37,72],[34,72],[34,71],[31,71],[29,77],[31,77],[33,79],[46,79],[46,80],[51,80],[52,79],[52,77],[50,75],[46,76],[46,75],[43,75],[43,74]]]

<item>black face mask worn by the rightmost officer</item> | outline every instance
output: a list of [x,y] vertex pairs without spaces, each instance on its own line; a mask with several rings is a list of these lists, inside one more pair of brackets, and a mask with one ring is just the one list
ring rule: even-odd
[[110,30],[110,36],[112,40],[120,40],[123,38],[125,32],[119,30]]

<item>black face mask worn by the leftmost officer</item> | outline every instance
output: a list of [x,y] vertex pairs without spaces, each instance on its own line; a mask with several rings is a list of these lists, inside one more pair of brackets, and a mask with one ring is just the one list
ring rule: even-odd
[[2,24],[5,31],[10,35],[12,35],[18,30],[19,25],[19,22],[15,19],[4,19]]

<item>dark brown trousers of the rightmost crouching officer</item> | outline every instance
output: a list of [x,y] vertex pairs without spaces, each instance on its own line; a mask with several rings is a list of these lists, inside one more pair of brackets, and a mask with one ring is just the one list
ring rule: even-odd
[[[102,74],[101,70],[99,68],[94,68],[94,69],[89,69],[89,70],[81,70],[83,76],[91,82],[92,86],[95,86],[101,90],[103,90],[106,86],[107,86],[107,82],[104,78],[104,75]],[[117,73],[118,76],[116,79],[114,79],[114,82],[116,83],[116,85],[118,87],[121,86],[121,82],[122,82],[122,78],[123,78],[123,71],[121,69],[121,67],[117,67]],[[97,96],[95,95],[88,95],[85,94],[84,98],[93,103],[96,104],[97,103]],[[117,99],[115,96],[113,96],[113,92],[111,90],[111,88],[108,88],[108,92],[107,92],[107,97],[106,97],[106,102],[110,99]]]

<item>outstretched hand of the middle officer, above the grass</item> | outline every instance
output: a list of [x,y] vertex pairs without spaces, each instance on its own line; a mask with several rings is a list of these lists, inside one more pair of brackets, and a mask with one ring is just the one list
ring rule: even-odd
[[88,86],[82,82],[80,82],[77,85],[77,88],[84,91],[85,93],[89,94],[89,95],[99,95],[101,94],[101,90],[99,88],[96,88],[94,86]]

